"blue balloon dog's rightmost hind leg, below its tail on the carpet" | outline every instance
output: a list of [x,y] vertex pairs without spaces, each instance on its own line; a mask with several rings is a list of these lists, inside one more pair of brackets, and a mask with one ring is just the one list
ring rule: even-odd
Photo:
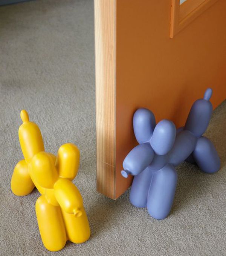
[[195,162],[206,173],[214,173],[220,169],[220,158],[212,142],[202,136],[198,139],[194,152]]

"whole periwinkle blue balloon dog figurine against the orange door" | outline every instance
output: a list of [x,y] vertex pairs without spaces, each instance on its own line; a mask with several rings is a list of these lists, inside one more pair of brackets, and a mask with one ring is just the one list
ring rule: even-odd
[[126,156],[122,176],[134,175],[130,201],[136,207],[147,207],[150,215],[164,219],[170,213],[177,185],[175,167],[182,161],[196,162],[203,172],[214,173],[220,158],[212,142],[202,136],[212,113],[207,89],[203,99],[194,102],[184,127],[176,130],[172,121],[156,124],[148,109],[137,109],[133,129],[139,143]]

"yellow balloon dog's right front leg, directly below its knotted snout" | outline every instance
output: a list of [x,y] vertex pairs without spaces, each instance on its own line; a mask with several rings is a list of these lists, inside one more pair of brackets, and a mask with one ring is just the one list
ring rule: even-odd
[[86,242],[90,238],[90,227],[84,207],[82,206],[81,214],[79,215],[66,213],[63,209],[61,210],[68,239],[75,244]]

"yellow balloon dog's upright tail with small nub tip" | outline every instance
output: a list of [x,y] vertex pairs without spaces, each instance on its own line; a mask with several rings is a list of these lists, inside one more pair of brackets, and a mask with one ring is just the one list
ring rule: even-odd
[[37,124],[29,121],[26,110],[21,110],[20,117],[23,121],[18,130],[20,147],[24,159],[29,163],[35,154],[44,151],[44,143],[39,127]]

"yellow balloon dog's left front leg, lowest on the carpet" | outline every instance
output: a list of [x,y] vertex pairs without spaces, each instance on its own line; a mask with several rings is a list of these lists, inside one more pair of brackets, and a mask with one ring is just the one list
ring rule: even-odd
[[49,251],[59,251],[66,244],[66,230],[60,207],[49,204],[44,195],[35,205],[38,227],[44,246]]

